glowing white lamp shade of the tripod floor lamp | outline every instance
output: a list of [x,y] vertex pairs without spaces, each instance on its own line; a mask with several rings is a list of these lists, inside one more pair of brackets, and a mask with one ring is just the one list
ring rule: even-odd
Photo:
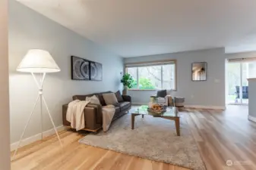
[[27,51],[27,54],[20,65],[17,66],[17,71],[29,73],[54,73],[59,72],[60,69],[48,51],[32,49]]

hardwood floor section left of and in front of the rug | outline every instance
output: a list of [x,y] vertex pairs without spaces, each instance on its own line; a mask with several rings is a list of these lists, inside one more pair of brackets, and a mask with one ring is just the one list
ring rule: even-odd
[[11,162],[12,170],[188,170],[162,162],[79,144],[84,135],[61,131],[63,148],[55,136],[23,147]]

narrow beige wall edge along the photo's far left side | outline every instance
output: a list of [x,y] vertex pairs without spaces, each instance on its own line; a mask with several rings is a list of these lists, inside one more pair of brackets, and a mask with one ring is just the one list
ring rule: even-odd
[[9,170],[8,0],[0,1],[0,56],[0,169]]

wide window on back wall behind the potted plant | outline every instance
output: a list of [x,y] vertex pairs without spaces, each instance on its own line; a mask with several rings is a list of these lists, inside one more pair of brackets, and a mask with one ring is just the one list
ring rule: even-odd
[[131,90],[176,88],[174,60],[163,63],[129,63],[126,64],[126,72],[134,78]]

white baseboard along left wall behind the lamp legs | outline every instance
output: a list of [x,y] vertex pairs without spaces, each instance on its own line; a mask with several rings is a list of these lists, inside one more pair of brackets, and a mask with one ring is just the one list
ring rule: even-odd
[[[56,128],[57,128],[57,131],[62,131],[62,130],[66,129],[66,127],[63,126],[63,125],[60,125],[60,126],[58,126]],[[52,129],[50,129],[48,131],[43,131],[43,138],[46,138],[46,137],[48,137],[48,136],[50,136],[52,134],[55,134],[54,128],[52,128]],[[32,144],[33,142],[40,141],[40,140],[41,140],[41,134],[35,134],[35,135],[33,135],[33,136],[29,137],[29,138],[24,138],[21,141],[20,147],[24,147],[27,144]],[[13,144],[11,144],[11,151],[15,150],[18,144],[19,144],[19,141],[14,142]]]

